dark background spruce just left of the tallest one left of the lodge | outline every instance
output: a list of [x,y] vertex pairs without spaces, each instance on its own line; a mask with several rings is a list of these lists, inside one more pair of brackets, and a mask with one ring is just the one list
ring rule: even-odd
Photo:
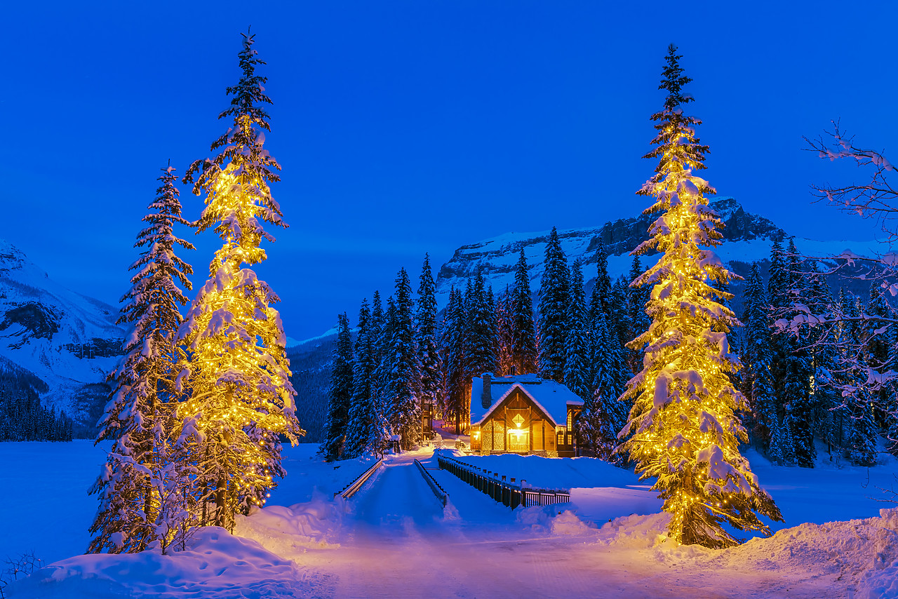
[[421,406],[418,403],[418,348],[412,310],[409,273],[396,275],[396,307],[392,330],[387,341],[384,363],[389,365],[384,389],[389,398],[389,422],[393,433],[401,437],[401,446],[409,450],[421,443]]

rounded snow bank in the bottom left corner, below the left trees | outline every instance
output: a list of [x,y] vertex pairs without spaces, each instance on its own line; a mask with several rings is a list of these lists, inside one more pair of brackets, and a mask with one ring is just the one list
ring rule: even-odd
[[11,597],[295,597],[315,595],[321,580],[259,543],[210,526],[186,551],[81,555],[40,568],[10,586]]

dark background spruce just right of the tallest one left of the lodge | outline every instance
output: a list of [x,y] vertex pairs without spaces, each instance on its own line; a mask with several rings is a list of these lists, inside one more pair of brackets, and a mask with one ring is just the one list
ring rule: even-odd
[[455,420],[455,434],[462,430],[462,418],[466,416],[466,393],[471,379],[467,372],[467,355],[465,332],[467,330],[464,300],[462,291],[453,289],[449,292],[449,304],[443,316],[441,347],[445,365],[446,389],[443,410],[445,417]]

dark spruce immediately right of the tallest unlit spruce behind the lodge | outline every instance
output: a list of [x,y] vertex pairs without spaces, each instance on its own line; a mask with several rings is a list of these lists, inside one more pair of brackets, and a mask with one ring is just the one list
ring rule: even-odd
[[570,304],[568,304],[568,335],[565,339],[564,383],[572,392],[586,400],[593,395],[590,367],[590,328],[586,322],[585,289],[580,260],[570,269]]

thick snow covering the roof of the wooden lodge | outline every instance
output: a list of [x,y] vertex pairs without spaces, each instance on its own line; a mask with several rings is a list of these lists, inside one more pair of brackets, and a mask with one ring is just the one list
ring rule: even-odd
[[568,422],[568,406],[582,406],[583,400],[568,387],[555,381],[541,379],[536,374],[518,376],[490,376],[489,408],[483,407],[483,378],[471,379],[471,425],[479,425],[515,389],[521,389],[533,400],[555,426],[562,427]]

